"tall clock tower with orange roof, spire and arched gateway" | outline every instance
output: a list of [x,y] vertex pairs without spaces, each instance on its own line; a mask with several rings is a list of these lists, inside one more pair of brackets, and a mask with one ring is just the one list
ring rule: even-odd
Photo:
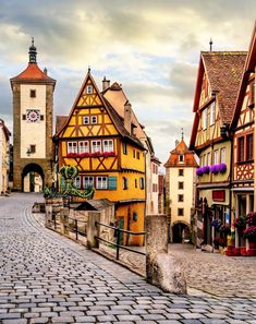
[[52,103],[56,80],[37,65],[32,39],[27,68],[11,79],[13,93],[13,190],[34,192],[51,185]]

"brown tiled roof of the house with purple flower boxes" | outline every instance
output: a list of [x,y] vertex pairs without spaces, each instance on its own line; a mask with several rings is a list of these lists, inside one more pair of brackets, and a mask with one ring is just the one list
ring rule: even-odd
[[230,123],[246,60],[246,51],[202,52],[210,88],[217,92],[220,118]]

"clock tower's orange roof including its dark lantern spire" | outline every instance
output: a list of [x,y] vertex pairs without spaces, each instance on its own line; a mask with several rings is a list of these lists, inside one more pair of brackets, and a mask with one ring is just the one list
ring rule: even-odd
[[56,84],[56,80],[48,76],[47,73],[45,73],[44,71],[41,71],[36,62],[36,56],[37,56],[37,51],[36,51],[36,47],[34,45],[34,38],[32,38],[32,45],[29,47],[29,51],[28,51],[28,65],[27,68],[20,73],[19,75],[12,77],[11,81],[11,85],[13,84],[13,82],[15,83],[49,83],[49,84]]

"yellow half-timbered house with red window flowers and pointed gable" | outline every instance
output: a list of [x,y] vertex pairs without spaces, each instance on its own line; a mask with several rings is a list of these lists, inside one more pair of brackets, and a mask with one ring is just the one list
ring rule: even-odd
[[[133,134],[131,105],[123,119],[99,92],[88,71],[69,117],[57,118],[57,165],[77,166],[76,188],[95,188],[94,199],[115,205],[121,228],[142,231],[145,219],[145,148]],[[61,182],[61,179],[59,179]],[[59,183],[61,185],[61,183]],[[123,236],[123,244],[144,237]]]

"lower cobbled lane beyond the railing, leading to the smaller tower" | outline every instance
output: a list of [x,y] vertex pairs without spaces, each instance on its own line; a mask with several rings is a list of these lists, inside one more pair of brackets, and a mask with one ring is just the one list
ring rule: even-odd
[[[186,244],[170,244],[169,253],[181,261],[191,288],[219,297],[256,298],[255,256],[229,257],[220,253],[202,252]],[[121,260],[136,272],[145,274],[145,257],[124,251]]]

